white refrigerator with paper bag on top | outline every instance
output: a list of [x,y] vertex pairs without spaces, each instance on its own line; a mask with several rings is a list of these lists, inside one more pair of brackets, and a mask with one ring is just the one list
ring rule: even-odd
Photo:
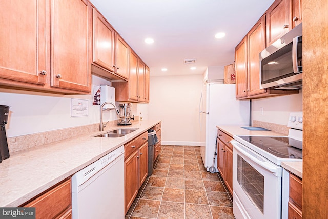
[[[199,101],[200,154],[208,171],[213,166],[216,126],[249,126],[250,120],[250,101],[237,101],[235,84],[222,83],[204,83]],[[214,167],[218,172],[217,156]]]

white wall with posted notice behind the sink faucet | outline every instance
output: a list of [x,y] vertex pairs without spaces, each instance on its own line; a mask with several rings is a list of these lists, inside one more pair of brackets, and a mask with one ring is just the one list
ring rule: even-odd
[[[60,95],[0,88],[0,105],[10,106],[7,137],[99,123],[100,106],[92,105],[92,102],[94,89],[100,84],[111,85],[111,82],[93,75],[90,95]],[[88,116],[70,116],[71,98],[88,100]],[[119,102],[115,104],[118,106]],[[134,104],[132,114],[138,116],[138,110],[138,104]],[[144,112],[147,114],[147,111]],[[113,110],[104,111],[104,121],[117,119]]]

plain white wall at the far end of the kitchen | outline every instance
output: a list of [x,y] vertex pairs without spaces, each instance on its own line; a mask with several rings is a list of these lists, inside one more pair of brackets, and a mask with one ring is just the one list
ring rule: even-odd
[[150,77],[148,118],[162,120],[162,144],[199,142],[202,79],[202,75]]

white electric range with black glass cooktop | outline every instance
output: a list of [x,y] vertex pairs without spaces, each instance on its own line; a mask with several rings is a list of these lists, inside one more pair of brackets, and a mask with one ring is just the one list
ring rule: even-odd
[[288,136],[234,135],[233,212],[237,219],[288,218],[289,173],[283,161],[302,161],[303,113],[292,112]]

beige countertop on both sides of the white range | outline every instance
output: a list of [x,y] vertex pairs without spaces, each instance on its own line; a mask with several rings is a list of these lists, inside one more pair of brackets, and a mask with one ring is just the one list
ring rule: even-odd
[[[233,135],[262,135],[262,136],[286,136],[274,131],[249,131],[238,126],[216,126],[223,132],[233,136]],[[281,167],[294,173],[298,177],[303,177],[303,161],[291,161],[291,162],[282,162]]]

